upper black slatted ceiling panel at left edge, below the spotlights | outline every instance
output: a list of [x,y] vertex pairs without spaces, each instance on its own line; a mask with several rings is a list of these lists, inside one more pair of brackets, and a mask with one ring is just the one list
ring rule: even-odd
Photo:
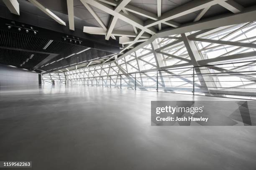
[[0,30],[0,46],[2,47],[38,51],[47,41],[44,38]]

